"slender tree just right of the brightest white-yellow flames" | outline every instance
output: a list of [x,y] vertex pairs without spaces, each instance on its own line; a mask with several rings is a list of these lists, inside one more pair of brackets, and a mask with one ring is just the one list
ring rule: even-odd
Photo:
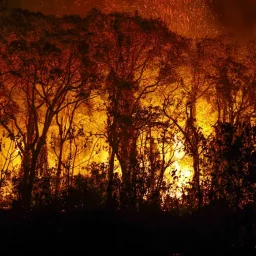
[[[205,150],[206,138],[198,120],[199,102],[211,94],[213,57],[207,51],[211,40],[192,40],[184,48],[183,65],[178,69],[180,84],[175,93],[164,97],[162,111],[170,123],[179,131],[184,151],[192,158],[193,186],[196,191],[198,206],[201,207],[201,157]],[[211,48],[212,49],[212,48]],[[204,102],[207,104],[207,101]],[[207,124],[210,126],[209,124]]]

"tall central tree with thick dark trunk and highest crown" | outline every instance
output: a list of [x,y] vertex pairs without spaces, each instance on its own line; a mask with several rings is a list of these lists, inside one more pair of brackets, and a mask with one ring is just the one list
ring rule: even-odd
[[109,194],[116,156],[122,169],[124,200],[131,200],[134,207],[137,139],[139,130],[148,122],[141,114],[142,99],[159,86],[174,81],[174,64],[167,59],[173,60],[171,55],[177,54],[178,38],[162,22],[138,15],[106,15],[96,10],[88,15],[88,23],[93,34],[92,58],[106,74],[107,137],[112,149]]

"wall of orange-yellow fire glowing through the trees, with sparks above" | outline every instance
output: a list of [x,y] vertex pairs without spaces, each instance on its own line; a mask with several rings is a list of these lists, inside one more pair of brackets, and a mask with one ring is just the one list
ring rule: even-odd
[[[153,1],[147,14],[161,13],[172,30],[180,22],[180,34],[197,37],[199,25],[190,20],[197,8],[207,13],[199,2]],[[74,185],[76,174],[103,174],[101,189],[108,186],[111,197],[118,173],[131,200],[146,194],[154,201],[161,193],[180,199],[190,184],[200,192],[203,172],[218,167],[209,149],[219,147],[214,125],[253,117],[254,60],[226,39],[183,38],[143,16],[94,10],[78,22],[77,35],[69,34],[77,22],[69,17],[56,25],[56,31],[69,28],[67,38],[60,33],[48,41],[39,33],[40,40],[33,34],[1,41],[1,182],[9,170],[24,174],[24,187],[33,189],[35,179],[48,175],[58,195]]]

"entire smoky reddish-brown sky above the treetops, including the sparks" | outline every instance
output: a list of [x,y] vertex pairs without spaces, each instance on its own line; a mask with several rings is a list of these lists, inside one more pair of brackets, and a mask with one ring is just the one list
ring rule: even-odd
[[44,14],[85,16],[93,7],[109,11],[136,9],[160,17],[170,29],[189,37],[231,32],[239,40],[256,39],[256,0],[9,0]]

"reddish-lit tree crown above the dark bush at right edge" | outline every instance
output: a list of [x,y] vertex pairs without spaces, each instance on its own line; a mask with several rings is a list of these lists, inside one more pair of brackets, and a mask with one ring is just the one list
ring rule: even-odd
[[215,87],[218,121],[239,124],[249,122],[255,113],[251,98],[255,78],[250,66],[227,55],[218,60]]

